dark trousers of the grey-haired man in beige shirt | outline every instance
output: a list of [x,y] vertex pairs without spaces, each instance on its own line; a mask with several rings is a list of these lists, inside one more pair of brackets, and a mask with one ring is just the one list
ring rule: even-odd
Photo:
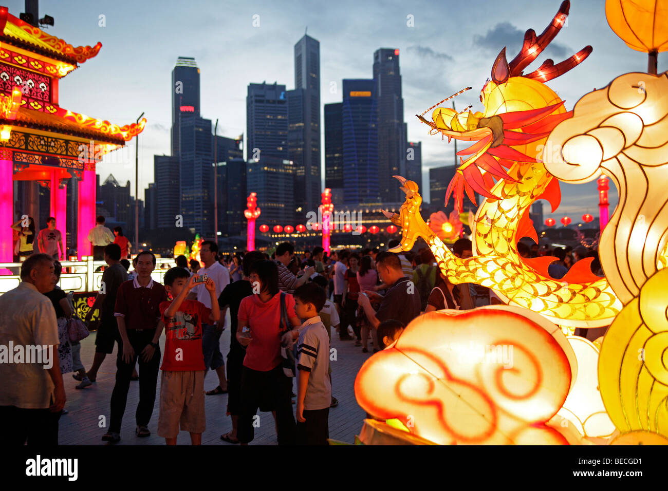
[[0,405],[0,446],[53,446],[58,444],[60,412],[48,409],[24,409],[14,405]]

